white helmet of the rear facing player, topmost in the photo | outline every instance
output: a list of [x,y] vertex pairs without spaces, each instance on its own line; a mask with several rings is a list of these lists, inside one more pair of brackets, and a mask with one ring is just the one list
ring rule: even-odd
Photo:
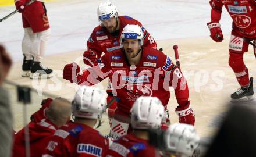
[[116,19],[118,19],[118,10],[112,2],[106,1],[99,3],[97,15],[99,24],[102,24],[103,20],[110,19],[111,17],[115,17]]

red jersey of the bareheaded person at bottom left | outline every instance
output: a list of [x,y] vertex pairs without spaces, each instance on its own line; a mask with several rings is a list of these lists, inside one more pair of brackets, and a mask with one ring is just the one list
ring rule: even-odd
[[[54,123],[47,119],[41,122],[30,122],[29,127],[29,144],[30,156],[42,156],[44,148],[47,146],[52,135],[57,130]],[[12,156],[26,157],[24,128],[14,135]]]

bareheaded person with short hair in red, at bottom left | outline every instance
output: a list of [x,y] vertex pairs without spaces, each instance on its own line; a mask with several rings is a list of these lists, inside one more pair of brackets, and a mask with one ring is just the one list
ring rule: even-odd
[[[51,140],[55,131],[70,120],[71,104],[66,99],[56,98],[49,103],[45,110],[45,118],[39,122],[31,121],[29,129],[29,156],[42,156],[44,149]],[[40,117],[41,118],[41,117]],[[36,119],[38,120],[38,119]],[[26,155],[25,128],[18,131],[14,136],[12,156]]]

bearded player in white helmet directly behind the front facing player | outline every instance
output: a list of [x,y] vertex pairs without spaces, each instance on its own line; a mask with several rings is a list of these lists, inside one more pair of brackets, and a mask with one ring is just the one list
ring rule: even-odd
[[[87,51],[84,51],[84,63],[92,65],[96,59],[100,58],[102,52],[108,53],[116,49],[120,49],[120,36],[123,27],[126,24],[138,24],[143,30],[144,47],[157,48],[157,43],[154,38],[148,33],[140,22],[129,17],[119,16],[116,6],[109,1],[100,3],[97,10],[99,26],[95,27],[93,33],[87,41]],[[111,92],[111,83],[107,87],[108,98],[111,101],[113,98]],[[109,123],[111,124],[113,113],[116,109],[116,101],[108,108]]]

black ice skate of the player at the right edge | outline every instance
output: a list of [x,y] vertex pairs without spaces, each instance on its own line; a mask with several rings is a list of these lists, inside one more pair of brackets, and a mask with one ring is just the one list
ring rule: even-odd
[[249,87],[241,87],[236,92],[231,94],[231,102],[252,101],[254,99],[253,94],[253,77],[251,77]]

